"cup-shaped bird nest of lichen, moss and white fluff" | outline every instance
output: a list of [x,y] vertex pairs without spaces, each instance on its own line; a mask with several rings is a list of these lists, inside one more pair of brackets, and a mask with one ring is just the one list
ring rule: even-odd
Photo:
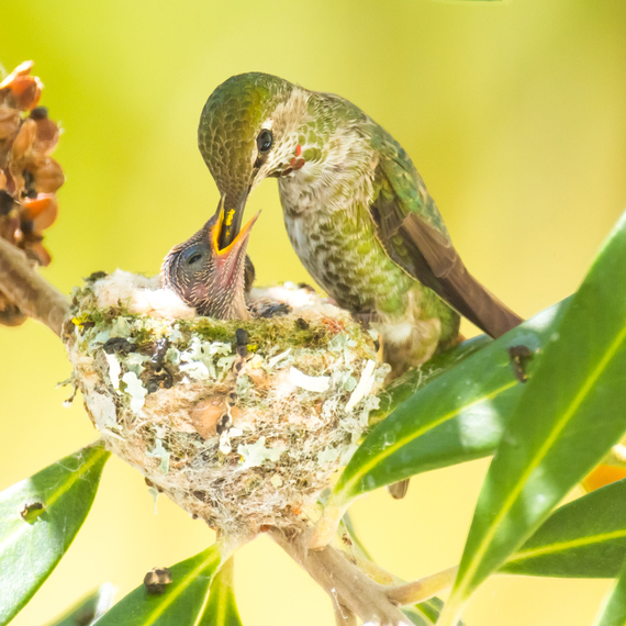
[[230,536],[301,525],[346,465],[389,367],[376,337],[293,284],[250,321],[198,317],[158,277],[94,275],[74,293],[74,383],[108,449]]

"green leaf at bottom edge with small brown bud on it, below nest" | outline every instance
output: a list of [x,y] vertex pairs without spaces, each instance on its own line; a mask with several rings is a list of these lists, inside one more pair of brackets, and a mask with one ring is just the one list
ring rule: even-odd
[[221,564],[220,546],[213,545],[174,566],[172,582],[163,594],[149,594],[142,584],[108,611],[98,626],[213,624],[208,611],[209,589]]

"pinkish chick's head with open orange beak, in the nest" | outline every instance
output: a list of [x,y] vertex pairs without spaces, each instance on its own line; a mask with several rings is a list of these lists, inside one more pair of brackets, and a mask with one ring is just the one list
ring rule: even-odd
[[199,315],[247,320],[246,293],[254,281],[254,266],[246,248],[258,213],[222,248],[223,201],[222,197],[217,212],[198,233],[171,248],[163,262],[161,279]]

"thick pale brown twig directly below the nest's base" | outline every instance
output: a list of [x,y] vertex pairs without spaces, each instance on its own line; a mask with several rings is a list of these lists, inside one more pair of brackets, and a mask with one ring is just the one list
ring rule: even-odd
[[[387,596],[387,589],[368,578],[332,546],[309,550],[306,536],[270,530],[273,540],[326,591],[335,605],[345,606],[367,624],[410,625],[409,618]],[[349,617],[348,617],[349,618]],[[338,622],[351,626],[353,622]]]

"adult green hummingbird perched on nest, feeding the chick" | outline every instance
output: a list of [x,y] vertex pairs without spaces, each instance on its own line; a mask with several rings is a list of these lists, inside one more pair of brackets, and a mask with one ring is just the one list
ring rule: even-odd
[[395,377],[458,342],[460,315],[492,337],[523,320],[467,270],[402,146],[348,100],[260,72],[209,97],[200,152],[237,241],[250,191],[277,178],[289,239],[336,303],[371,324]]

